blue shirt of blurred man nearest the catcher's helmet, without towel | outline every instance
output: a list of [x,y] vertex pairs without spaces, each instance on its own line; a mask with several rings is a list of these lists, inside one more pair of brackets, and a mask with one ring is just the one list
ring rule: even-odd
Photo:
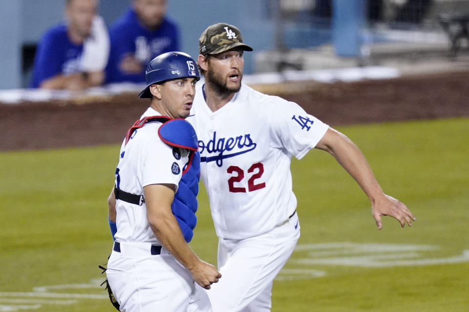
[[[158,29],[145,28],[133,9],[129,9],[109,28],[111,49],[106,67],[106,82],[145,82],[145,67],[158,55],[179,51],[179,31],[175,23],[165,18]],[[132,54],[143,64],[137,75],[128,75],[119,69],[119,63]]]

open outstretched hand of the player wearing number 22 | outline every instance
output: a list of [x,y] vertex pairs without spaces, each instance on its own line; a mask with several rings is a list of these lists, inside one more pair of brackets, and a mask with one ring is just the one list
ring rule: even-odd
[[405,226],[405,222],[407,222],[409,226],[412,226],[412,221],[416,220],[407,206],[399,200],[385,194],[375,200],[371,207],[371,213],[376,221],[378,230],[383,228],[383,222],[381,220],[383,215],[392,216],[401,223],[401,227]]

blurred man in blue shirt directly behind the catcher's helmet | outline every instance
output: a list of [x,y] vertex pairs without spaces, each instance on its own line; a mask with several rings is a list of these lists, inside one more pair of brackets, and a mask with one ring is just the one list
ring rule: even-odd
[[165,14],[166,0],[132,0],[128,11],[109,27],[107,83],[143,83],[151,59],[179,51],[178,27]]

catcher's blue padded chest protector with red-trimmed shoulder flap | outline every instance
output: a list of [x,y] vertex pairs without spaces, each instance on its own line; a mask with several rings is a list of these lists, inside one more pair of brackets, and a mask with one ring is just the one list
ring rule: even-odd
[[186,242],[192,240],[197,223],[197,194],[200,179],[200,154],[197,152],[198,141],[192,125],[184,119],[171,119],[158,130],[159,137],[166,144],[190,150],[189,162],[182,172],[181,180],[171,204],[173,215],[181,228]]

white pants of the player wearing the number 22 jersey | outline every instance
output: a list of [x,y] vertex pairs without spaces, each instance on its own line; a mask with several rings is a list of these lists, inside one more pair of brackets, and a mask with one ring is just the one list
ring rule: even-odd
[[207,291],[213,312],[268,312],[272,284],[299,238],[295,214],[272,231],[241,240],[218,240],[221,278]]

